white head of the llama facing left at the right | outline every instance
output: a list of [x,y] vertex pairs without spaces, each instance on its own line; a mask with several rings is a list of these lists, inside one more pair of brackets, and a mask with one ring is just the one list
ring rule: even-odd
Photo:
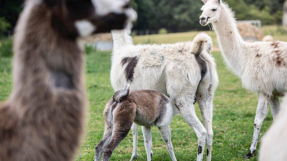
[[202,14],[199,17],[199,22],[202,26],[208,23],[218,21],[221,9],[221,0],[202,0],[204,5],[201,7]]

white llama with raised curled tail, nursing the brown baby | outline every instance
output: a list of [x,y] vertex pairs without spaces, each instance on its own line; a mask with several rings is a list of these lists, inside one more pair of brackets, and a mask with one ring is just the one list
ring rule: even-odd
[[[218,84],[211,56],[212,41],[198,34],[192,42],[162,45],[133,45],[130,30],[113,30],[111,84],[115,91],[131,84],[132,90],[153,89],[169,96],[198,138],[197,160],[205,144],[211,160],[213,96]],[[203,124],[194,110],[194,98],[202,112]],[[137,157],[137,125],[132,126],[133,154]],[[148,143],[148,140],[145,140]]]

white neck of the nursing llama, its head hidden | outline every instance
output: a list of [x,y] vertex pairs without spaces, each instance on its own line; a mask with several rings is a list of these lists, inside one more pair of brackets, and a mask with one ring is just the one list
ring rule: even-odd
[[133,45],[133,39],[131,37],[131,24],[123,30],[112,30],[114,50],[117,50],[126,45]]

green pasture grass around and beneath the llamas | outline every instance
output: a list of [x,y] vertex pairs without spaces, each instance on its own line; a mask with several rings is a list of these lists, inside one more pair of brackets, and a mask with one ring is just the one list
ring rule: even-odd
[[[89,98],[88,124],[86,135],[75,160],[93,160],[94,147],[104,132],[103,109],[111,98],[113,89],[109,80],[111,52],[92,52],[86,57],[86,88]],[[229,72],[221,58],[220,52],[213,52],[216,58],[219,87],[214,99],[213,111],[213,151],[215,161],[243,160],[249,151],[253,135],[253,120],[257,106],[257,95],[241,86],[241,81]],[[11,58],[0,58],[0,100],[7,99],[11,91]],[[198,105],[197,116],[201,119]],[[272,123],[269,112],[261,129],[260,138]],[[180,115],[171,123],[172,143],[177,160],[195,160],[197,138],[193,130]],[[160,133],[152,128],[153,160],[170,160]],[[260,145],[260,143],[259,143]],[[139,159],[146,160],[143,136],[139,128]],[[132,153],[132,134],[125,138],[114,151],[111,160],[129,160]],[[206,155],[206,150],[205,150]],[[250,160],[257,160],[258,153]],[[205,159],[205,158],[204,158]]]

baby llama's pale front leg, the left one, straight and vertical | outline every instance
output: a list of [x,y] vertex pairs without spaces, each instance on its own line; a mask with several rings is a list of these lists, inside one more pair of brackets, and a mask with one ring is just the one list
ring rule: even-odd
[[151,127],[141,126],[141,130],[143,131],[144,147],[146,148],[147,160],[151,161],[151,147],[152,147]]

